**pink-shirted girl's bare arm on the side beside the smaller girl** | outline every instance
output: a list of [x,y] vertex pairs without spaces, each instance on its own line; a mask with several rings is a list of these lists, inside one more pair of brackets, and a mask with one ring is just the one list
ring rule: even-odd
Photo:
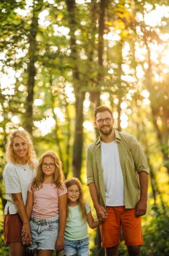
[[59,225],[58,225],[58,237],[56,239],[56,251],[62,251],[64,249],[64,230],[66,227],[66,205],[67,194],[60,195],[58,197],[59,203]]

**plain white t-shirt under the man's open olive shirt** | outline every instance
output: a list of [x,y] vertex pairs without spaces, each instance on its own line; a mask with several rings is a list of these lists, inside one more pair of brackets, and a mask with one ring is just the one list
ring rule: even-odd
[[124,181],[116,141],[110,143],[101,141],[101,163],[106,189],[106,205],[124,205]]

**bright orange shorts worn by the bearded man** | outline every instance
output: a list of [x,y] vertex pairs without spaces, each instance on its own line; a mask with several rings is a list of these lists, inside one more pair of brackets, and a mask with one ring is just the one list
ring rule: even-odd
[[121,228],[125,245],[143,245],[142,217],[135,217],[135,209],[124,206],[107,206],[107,218],[100,225],[101,247],[115,247],[120,244]]

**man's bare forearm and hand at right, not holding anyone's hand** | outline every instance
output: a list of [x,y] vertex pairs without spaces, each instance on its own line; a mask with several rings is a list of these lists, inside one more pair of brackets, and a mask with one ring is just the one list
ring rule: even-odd
[[148,173],[139,172],[140,198],[135,207],[135,216],[143,216],[146,214],[148,201]]

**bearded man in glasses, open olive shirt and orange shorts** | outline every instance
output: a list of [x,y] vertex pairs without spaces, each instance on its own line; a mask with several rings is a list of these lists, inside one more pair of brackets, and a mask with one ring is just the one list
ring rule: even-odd
[[146,158],[135,137],[113,128],[107,106],[95,108],[94,116],[100,137],[87,150],[87,185],[101,220],[101,246],[107,256],[117,256],[122,227],[129,255],[139,256],[148,199]]

